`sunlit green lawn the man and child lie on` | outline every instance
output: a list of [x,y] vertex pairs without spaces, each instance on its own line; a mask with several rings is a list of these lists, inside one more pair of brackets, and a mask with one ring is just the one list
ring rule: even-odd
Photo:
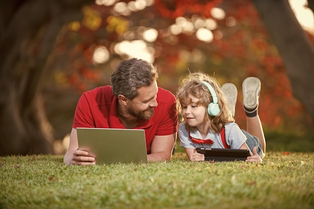
[[67,166],[63,156],[0,157],[0,208],[314,208],[314,154],[263,163]]

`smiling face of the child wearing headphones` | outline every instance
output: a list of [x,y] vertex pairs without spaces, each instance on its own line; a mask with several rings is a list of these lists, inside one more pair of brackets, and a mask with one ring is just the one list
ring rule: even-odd
[[189,95],[189,97],[191,98],[191,101],[181,102],[182,115],[189,126],[196,126],[199,129],[199,127],[204,125],[207,109],[198,103],[198,98],[192,95]]

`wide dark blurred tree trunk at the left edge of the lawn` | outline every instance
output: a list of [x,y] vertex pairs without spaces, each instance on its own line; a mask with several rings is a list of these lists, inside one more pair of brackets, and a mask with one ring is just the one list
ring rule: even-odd
[[0,2],[0,155],[53,153],[41,98],[50,54],[62,27],[93,2]]

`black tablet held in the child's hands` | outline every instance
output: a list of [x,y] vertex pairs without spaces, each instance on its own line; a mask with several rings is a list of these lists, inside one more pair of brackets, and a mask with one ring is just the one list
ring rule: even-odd
[[205,161],[245,161],[251,156],[248,149],[197,147],[196,151],[205,155]]

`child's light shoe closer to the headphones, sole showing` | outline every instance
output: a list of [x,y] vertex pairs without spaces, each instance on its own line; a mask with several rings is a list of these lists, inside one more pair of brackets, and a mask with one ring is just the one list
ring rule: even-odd
[[221,86],[221,90],[225,94],[228,109],[230,110],[232,116],[235,114],[235,104],[237,102],[238,90],[237,87],[232,83],[225,83]]

